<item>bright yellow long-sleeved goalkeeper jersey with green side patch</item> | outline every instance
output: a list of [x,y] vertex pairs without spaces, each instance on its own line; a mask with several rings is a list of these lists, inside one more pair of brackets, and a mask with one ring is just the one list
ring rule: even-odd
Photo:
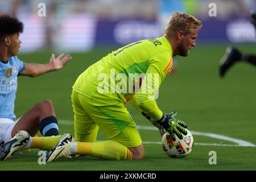
[[106,103],[135,104],[151,118],[163,113],[156,104],[158,89],[172,69],[172,47],[165,36],[121,47],[103,57],[77,78],[73,89]]

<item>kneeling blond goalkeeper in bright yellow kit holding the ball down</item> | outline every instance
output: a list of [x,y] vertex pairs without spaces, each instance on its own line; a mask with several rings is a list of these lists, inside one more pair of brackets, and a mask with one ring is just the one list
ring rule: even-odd
[[[125,107],[129,101],[160,129],[182,138],[186,124],[175,119],[175,112],[163,113],[155,98],[171,72],[172,57],[188,56],[201,26],[194,16],[174,13],[164,36],[119,48],[86,69],[72,90],[76,142],[67,142],[72,140],[64,135],[47,155],[47,162],[67,155],[143,159],[142,139]],[[98,129],[109,140],[96,142]]]

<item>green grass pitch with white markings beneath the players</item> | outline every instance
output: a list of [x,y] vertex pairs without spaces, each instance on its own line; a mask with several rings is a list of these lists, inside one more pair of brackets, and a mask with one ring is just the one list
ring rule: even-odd
[[[160,109],[177,111],[176,118],[187,122],[189,130],[222,136],[216,138],[197,133],[193,151],[187,157],[169,158],[159,144],[158,131],[139,130],[145,142],[143,160],[110,161],[82,156],[39,165],[39,150],[31,150],[0,162],[0,170],[255,170],[256,147],[241,146],[241,140],[256,144],[256,69],[238,63],[225,78],[220,78],[218,61],[226,46],[201,44],[192,49],[188,57],[177,57],[176,74],[168,76],[160,87],[157,100]],[[256,53],[255,45],[240,44],[238,48]],[[110,51],[97,49],[88,53],[71,53],[73,60],[58,72],[36,78],[19,77],[16,116],[20,117],[36,102],[48,99],[53,102],[60,121],[60,133],[73,134],[72,85],[80,73]],[[20,54],[19,59],[48,63],[50,56],[51,52],[34,52]],[[138,126],[151,126],[132,107],[127,107]],[[106,137],[100,132],[98,140],[104,139]],[[209,151],[216,151],[217,164],[209,164]]]

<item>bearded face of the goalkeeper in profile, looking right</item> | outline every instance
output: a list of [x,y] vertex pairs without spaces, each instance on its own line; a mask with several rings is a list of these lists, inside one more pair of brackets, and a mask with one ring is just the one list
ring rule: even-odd
[[181,35],[180,44],[177,46],[180,56],[188,56],[189,50],[196,46],[199,28],[191,28],[189,34]]

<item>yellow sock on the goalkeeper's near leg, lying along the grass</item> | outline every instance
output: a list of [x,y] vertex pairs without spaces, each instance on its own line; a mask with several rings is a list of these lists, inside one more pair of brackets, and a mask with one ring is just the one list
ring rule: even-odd
[[131,160],[133,156],[129,148],[113,140],[106,140],[104,142],[77,142],[76,153],[109,160]]

